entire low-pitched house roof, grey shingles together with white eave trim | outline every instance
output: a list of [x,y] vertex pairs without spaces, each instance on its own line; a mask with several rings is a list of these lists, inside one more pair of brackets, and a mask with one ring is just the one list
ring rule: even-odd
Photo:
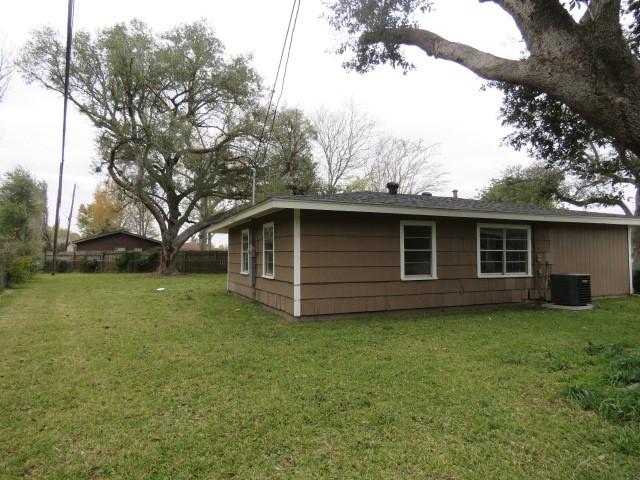
[[612,213],[587,212],[564,208],[543,208],[512,203],[488,202],[469,198],[427,195],[391,195],[380,192],[336,193],[332,195],[291,195],[273,197],[252,207],[230,211],[210,231],[228,228],[267,215],[273,211],[299,208],[346,212],[391,213],[435,217],[483,218],[564,223],[601,223],[640,226],[640,218]]

